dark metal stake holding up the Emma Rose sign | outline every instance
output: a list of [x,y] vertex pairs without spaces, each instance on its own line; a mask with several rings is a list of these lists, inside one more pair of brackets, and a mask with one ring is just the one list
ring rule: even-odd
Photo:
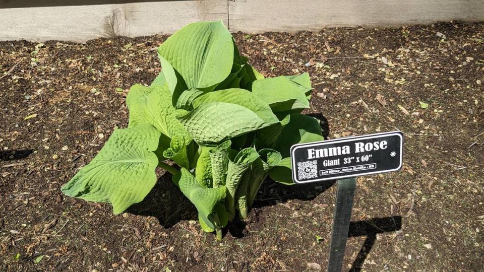
[[329,272],[340,272],[343,265],[355,187],[355,177],[337,181],[336,206],[334,208],[333,229],[329,246]]

